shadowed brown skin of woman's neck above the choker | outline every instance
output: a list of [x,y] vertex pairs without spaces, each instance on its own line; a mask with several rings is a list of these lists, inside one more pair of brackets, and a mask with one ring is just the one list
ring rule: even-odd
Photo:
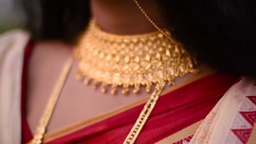
[[[159,27],[165,27],[158,3],[154,0],[138,1],[149,17]],[[156,28],[138,9],[133,0],[90,0],[92,17],[105,32],[127,35],[156,31]]]

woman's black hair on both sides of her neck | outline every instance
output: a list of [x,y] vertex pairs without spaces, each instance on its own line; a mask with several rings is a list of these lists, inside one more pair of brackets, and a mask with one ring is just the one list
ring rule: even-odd
[[[34,37],[72,43],[86,27],[85,0],[22,0]],[[37,3],[33,3],[37,2]],[[256,9],[252,0],[160,0],[168,29],[201,62],[256,76]]]

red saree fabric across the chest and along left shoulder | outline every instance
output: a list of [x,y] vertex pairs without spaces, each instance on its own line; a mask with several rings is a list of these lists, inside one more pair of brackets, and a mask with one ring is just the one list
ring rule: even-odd
[[[26,71],[32,50],[33,42],[30,41],[25,51],[22,75],[22,143],[32,139],[25,113]],[[138,136],[136,143],[158,142],[179,130],[201,121],[237,79],[237,76],[212,74],[162,95],[141,134]],[[59,131],[54,131],[46,134],[48,136],[46,136],[44,142],[123,143],[143,106],[144,104],[140,104],[90,125],[80,122]]]

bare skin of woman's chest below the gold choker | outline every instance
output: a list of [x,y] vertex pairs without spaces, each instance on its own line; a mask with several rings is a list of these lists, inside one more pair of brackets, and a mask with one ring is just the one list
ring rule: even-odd
[[[46,104],[51,97],[57,81],[59,80],[63,63],[67,57],[63,56],[62,61],[54,61],[54,57],[45,59],[43,64],[34,66],[33,62],[28,70],[27,93],[26,93],[26,117],[27,122],[34,133],[43,115]],[[46,63],[46,64],[45,64]],[[141,93],[128,95],[121,94],[121,88],[118,93],[113,95],[110,91],[101,92],[101,88],[92,88],[90,85],[84,85],[78,81],[76,76],[77,62],[74,62],[66,82],[57,96],[56,105],[54,105],[53,114],[50,118],[48,131],[53,131],[66,127],[84,119],[94,117],[110,110],[117,109],[127,104],[134,103],[150,94],[142,89]]]

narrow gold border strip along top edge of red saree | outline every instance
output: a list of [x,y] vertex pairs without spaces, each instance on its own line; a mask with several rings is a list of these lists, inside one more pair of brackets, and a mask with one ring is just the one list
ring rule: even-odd
[[[174,91],[175,89],[178,89],[180,87],[188,85],[189,83],[191,83],[193,81],[199,80],[202,77],[205,77],[207,75],[211,75],[213,73],[216,73],[216,71],[206,71],[205,73],[193,76],[191,79],[189,79],[187,81],[178,83],[177,85],[174,85],[174,86],[166,89],[164,92],[162,92],[161,96],[165,95],[166,93],[170,93],[171,91]],[[83,129],[85,127],[88,127],[89,125],[92,125],[92,124],[95,124],[97,122],[103,121],[104,119],[107,119],[109,117],[117,115],[118,113],[124,112],[126,110],[132,109],[133,107],[144,104],[144,103],[147,102],[147,100],[148,100],[148,98],[143,98],[139,101],[136,101],[135,103],[119,107],[118,109],[110,110],[108,112],[102,113],[102,114],[97,115],[95,117],[85,119],[82,122],[74,123],[72,125],[68,125],[67,127],[64,127],[64,128],[61,128],[61,129],[58,129],[58,130],[55,130],[55,131],[50,131],[49,133],[46,133],[44,135],[44,142],[49,142],[51,140],[58,139],[59,137],[71,134],[74,131]]]

